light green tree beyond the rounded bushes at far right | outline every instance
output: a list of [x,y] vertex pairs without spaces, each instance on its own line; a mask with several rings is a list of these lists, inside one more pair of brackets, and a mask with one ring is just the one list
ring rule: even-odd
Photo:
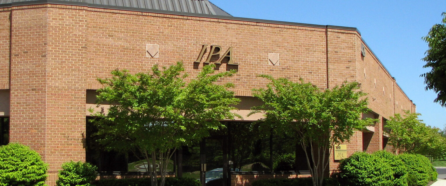
[[404,116],[390,117],[386,127],[391,130],[389,144],[397,153],[417,153],[431,158],[442,157],[446,153],[446,140],[438,128],[426,126],[418,119],[419,113],[405,112]]

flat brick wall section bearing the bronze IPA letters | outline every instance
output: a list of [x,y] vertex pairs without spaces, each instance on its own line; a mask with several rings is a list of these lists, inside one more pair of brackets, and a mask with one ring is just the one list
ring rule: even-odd
[[[193,68],[202,44],[220,45],[224,51],[234,47],[239,72],[227,80],[235,83],[237,95],[250,95],[252,88],[264,87],[266,81],[257,74],[289,77],[293,81],[303,78],[326,86],[324,29],[114,12],[118,11],[89,14],[88,88],[99,87],[96,78],[109,77],[116,68],[134,73],[147,71],[154,64],[165,66],[182,60],[194,77],[202,68],[202,64]],[[146,44],[159,45],[159,58],[146,57]],[[268,53],[280,55],[279,65],[270,65]],[[223,64],[220,71],[225,69]]]

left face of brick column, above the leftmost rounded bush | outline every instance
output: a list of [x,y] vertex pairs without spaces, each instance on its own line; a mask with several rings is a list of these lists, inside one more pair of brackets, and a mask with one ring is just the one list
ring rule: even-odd
[[47,9],[12,10],[10,142],[46,159]]

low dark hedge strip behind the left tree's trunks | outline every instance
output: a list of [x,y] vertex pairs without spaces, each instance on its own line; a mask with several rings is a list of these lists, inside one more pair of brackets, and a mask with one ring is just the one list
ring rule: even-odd
[[[161,178],[158,178],[158,182]],[[95,186],[151,186],[150,178],[101,179],[92,182]],[[194,178],[166,177],[165,186],[200,186]]]

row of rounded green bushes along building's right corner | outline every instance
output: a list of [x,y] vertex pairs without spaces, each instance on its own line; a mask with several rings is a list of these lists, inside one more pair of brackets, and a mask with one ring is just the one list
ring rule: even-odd
[[337,177],[343,186],[426,186],[437,179],[437,172],[422,155],[378,151],[341,160]]

